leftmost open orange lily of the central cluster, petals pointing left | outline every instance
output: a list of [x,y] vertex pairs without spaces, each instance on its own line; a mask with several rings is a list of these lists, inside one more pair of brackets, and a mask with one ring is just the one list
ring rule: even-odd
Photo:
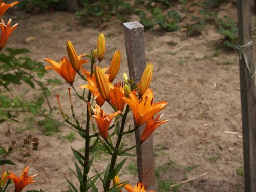
[[73,84],[76,76],[76,71],[73,69],[70,61],[67,59],[66,56],[63,56],[60,59],[60,63],[49,59],[45,58],[46,62],[49,62],[52,66],[46,66],[45,69],[53,69],[55,70],[58,74],[63,77],[69,84]]

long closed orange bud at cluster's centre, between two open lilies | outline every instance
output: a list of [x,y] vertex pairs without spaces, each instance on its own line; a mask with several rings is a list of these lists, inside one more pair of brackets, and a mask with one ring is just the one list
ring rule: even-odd
[[108,101],[110,99],[110,88],[106,77],[99,66],[95,69],[96,84],[101,97]]

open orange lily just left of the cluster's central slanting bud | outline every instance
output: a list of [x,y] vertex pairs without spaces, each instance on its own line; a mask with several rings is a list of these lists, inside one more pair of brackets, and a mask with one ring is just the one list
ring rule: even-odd
[[[81,68],[82,69],[82,68]],[[99,106],[102,106],[104,103],[105,103],[105,100],[101,97],[101,95],[99,94],[99,90],[97,88],[97,84],[96,84],[96,80],[95,78],[93,77],[90,77],[90,75],[86,78],[87,82],[89,84],[84,84],[83,86],[80,86],[78,89],[82,89],[82,88],[85,88],[85,89],[89,89],[93,96],[94,96],[94,99],[96,100],[96,103],[99,105]]]

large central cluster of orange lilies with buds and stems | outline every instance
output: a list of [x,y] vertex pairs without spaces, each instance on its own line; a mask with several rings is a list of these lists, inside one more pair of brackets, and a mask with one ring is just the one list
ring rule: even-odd
[[[86,102],[86,120],[80,124],[71,101],[71,93],[69,88],[70,105],[72,116],[75,121],[75,123],[73,123],[63,112],[59,95],[57,94],[59,110],[64,120],[70,124],[73,129],[78,131],[86,143],[84,157],[81,154],[78,155],[84,160],[81,163],[84,168],[83,174],[80,174],[79,170],[77,170],[77,173],[79,172],[78,177],[79,175],[81,177],[78,178],[80,181],[80,188],[86,188],[87,182],[90,182],[91,186],[93,185],[90,179],[87,180],[87,178],[89,178],[87,170],[91,163],[89,160],[90,149],[95,145],[98,145],[104,152],[110,154],[112,158],[109,167],[106,168],[108,172],[105,172],[105,174],[111,174],[113,172],[116,173],[115,163],[117,157],[119,155],[129,154],[127,151],[136,147],[135,145],[123,149],[124,142],[122,142],[122,137],[126,134],[133,133],[135,130],[139,129],[139,127],[145,124],[143,132],[140,136],[141,142],[145,142],[152,135],[154,130],[157,129],[157,127],[169,121],[160,121],[163,114],[158,115],[158,113],[165,108],[168,102],[154,101],[153,90],[150,89],[153,74],[152,63],[149,63],[146,66],[140,82],[134,82],[133,79],[129,79],[126,73],[123,74],[123,81],[115,81],[121,63],[121,52],[118,50],[115,51],[108,67],[102,68],[100,66],[105,56],[106,46],[103,33],[99,34],[97,49],[91,50],[90,54],[77,55],[71,41],[67,41],[66,46],[68,56],[63,56],[59,63],[52,59],[45,58],[45,61],[51,64],[51,66],[46,66],[45,69],[53,69],[60,74],[61,77],[65,79],[68,84],[70,84],[79,98]],[[90,67],[87,67],[88,65],[83,66],[83,64],[89,63],[87,60],[83,59],[83,57],[90,59]],[[83,89],[82,94],[79,93],[74,86],[76,74],[87,82],[86,84],[78,86],[79,89]],[[86,90],[88,90],[87,97],[85,94]],[[94,104],[94,100],[96,101],[96,104]],[[111,106],[111,108],[114,110],[113,113],[109,114],[103,110],[102,106],[105,103],[108,103]],[[125,130],[125,121],[130,110],[133,113],[136,124],[134,129],[130,129],[130,125],[129,129]],[[113,119],[115,120],[111,125]],[[92,135],[90,135],[90,120],[94,129],[94,134]],[[94,121],[96,121],[97,127],[94,124]],[[85,128],[83,128],[84,124],[86,126]],[[115,127],[114,131],[111,130],[113,127]],[[114,135],[117,136],[117,139],[113,142],[112,140]],[[97,138],[96,141],[92,146],[89,146],[90,139],[94,137]],[[113,143],[115,143],[115,146]],[[77,158],[77,153],[75,156]],[[77,160],[79,162],[82,161],[79,158],[77,158]],[[115,182],[117,183],[118,176],[114,176],[116,176]],[[104,191],[109,191],[110,182],[114,178],[113,174],[111,176],[104,176],[104,178],[104,181],[102,180]],[[120,184],[120,186],[122,185]],[[70,187],[73,186],[70,185]],[[129,184],[126,184],[125,186],[123,185],[123,187],[125,187],[128,191],[146,191],[146,187],[142,183],[138,183],[134,188],[132,188]]]

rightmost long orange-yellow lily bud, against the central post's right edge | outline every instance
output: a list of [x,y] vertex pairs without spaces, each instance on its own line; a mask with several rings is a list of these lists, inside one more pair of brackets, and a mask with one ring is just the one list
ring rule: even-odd
[[141,84],[139,87],[139,95],[142,96],[148,87],[150,87],[151,78],[153,73],[153,64],[148,63],[141,77]]

